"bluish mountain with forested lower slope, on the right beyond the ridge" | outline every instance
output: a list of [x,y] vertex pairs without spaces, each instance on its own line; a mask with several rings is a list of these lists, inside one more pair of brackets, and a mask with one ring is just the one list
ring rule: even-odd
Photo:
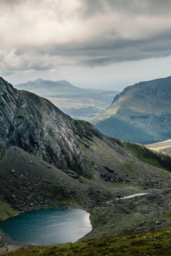
[[126,87],[90,122],[104,134],[132,143],[170,139],[171,77]]

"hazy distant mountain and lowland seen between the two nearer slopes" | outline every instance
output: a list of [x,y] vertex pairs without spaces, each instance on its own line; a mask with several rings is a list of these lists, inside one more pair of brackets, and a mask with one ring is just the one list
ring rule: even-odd
[[118,93],[83,89],[73,86],[67,81],[45,81],[43,79],[17,84],[15,87],[45,97],[64,113],[82,120],[88,120],[106,109]]

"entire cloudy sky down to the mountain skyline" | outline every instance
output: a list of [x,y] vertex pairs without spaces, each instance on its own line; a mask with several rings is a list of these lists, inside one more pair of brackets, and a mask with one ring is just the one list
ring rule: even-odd
[[0,76],[123,90],[171,76],[171,0],[0,0]]

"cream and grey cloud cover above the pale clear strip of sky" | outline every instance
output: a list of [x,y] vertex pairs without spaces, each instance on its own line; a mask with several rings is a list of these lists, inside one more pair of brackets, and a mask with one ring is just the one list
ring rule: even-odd
[[170,14],[170,0],[2,0],[0,70],[169,56]]

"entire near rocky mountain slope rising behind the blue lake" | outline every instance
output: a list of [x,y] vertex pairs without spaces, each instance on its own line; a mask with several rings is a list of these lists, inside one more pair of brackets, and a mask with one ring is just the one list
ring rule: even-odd
[[0,219],[64,206],[90,212],[86,237],[169,227],[170,156],[105,136],[3,78],[0,118]]

